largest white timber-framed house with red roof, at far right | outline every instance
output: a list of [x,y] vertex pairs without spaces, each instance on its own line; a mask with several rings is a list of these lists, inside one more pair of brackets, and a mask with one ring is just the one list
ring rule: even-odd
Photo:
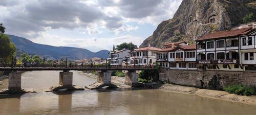
[[255,71],[254,28],[219,31],[196,40],[198,67],[203,70]]

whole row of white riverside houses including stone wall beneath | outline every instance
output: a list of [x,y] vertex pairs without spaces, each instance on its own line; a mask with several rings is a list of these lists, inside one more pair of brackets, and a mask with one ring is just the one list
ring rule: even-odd
[[167,43],[163,49],[134,49],[127,56],[131,65],[158,63],[162,68],[159,79],[170,83],[212,89],[229,84],[256,87],[253,27],[209,33],[190,45],[180,41]]

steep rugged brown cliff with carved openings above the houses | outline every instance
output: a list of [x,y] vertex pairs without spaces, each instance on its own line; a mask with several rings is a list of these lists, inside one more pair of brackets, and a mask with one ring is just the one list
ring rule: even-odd
[[153,35],[145,39],[140,47],[151,44],[162,48],[166,42],[191,41],[210,32],[240,25],[246,14],[256,14],[255,7],[250,4],[253,1],[255,0],[183,0],[174,17],[161,22]]

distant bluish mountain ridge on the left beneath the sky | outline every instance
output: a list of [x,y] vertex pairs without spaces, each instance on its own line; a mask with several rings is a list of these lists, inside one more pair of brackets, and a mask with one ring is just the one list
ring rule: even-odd
[[84,58],[108,58],[109,51],[101,50],[99,52],[91,52],[87,49],[72,47],[54,47],[51,45],[34,43],[26,38],[8,35],[10,40],[16,45],[17,49],[29,54],[37,54],[42,57],[53,57],[55,59],[68,58],[72,60]]

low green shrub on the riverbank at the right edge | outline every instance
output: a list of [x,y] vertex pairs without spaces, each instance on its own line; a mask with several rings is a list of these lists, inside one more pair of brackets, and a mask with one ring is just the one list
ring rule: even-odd
[[228,85],[224,88],[230,94],[237,94],[237,95],[256,95],[256,90],[252,86],[244,86],[240,84]]

